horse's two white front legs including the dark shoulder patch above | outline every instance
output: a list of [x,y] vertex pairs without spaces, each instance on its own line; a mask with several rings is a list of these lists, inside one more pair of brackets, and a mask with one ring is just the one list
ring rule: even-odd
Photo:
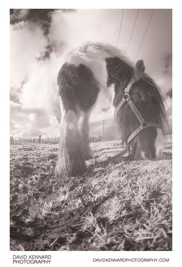
[[[61,97],[60,144],[56,172],[80,174],[91,157],[88,144],[89,110],[95,104],[99,85],[91,70],[65,63],[57,77]],[[82,116],[79,123],[79,118]]]

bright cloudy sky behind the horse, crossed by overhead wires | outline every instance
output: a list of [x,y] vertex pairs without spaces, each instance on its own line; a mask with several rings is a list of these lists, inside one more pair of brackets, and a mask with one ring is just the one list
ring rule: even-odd
[[[143,59],[146,72],[160,86],[165,96],[167,116],[171,124],[172,10],[155,9],[151,17],[152,11],[11,10],[10,135],[14,138],[38,137],[39,134],[42,137],[59,136],[59,126],[45,108],[44,95],[52,76],[61,68],[66,52],[87,41],[106,42],[115,46],[118,42],[118,47],[128,50],[127,54],[132,61]],[[139,48],[148,23],[149,27]],[[101,120],[106,120],[105,137],[119,138],[117,125],[108,108],[108,101],[100,96],[90,117],[91,136],[102,136]]]

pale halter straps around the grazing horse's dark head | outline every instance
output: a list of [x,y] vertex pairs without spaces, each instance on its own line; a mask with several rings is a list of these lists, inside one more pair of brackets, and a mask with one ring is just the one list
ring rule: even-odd
[[119,113],[119,110],[122,108],[122,106],[124,105],[124,103],[127,101],[128,104],[130,105],[132,111],[134,112],[134,114],[136,115],[136,117],[138,118],[138,120],[140,121],[140,126],[138,126],[133,132],[132,134],[128,137],[128,139],[126,140],[127,144],[130,144],[131,141],[136,137],[136,135],[141,132],[143,129],[148,128],[148,127],[155,127],[155,128],[161,128],[161,125],[158,123],[151,123],[151,122],[147,122],[143,119],[142,115],[140,114],[140,112],[137,110],[137,108],[135,107],[134,103],[132,102],[132,99],[130,98],[130,89],[133,83],[133,79],[130,80],[130,82],[128,83],[128,86],[125,89],[125,94],[121,100],[121,102],[117,105],[115,113],[114,113],[114,117],[115,119],[117,118],[117,114]]

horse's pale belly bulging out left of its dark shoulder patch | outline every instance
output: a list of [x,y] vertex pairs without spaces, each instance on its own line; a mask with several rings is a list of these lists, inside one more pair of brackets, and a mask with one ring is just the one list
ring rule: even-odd
[[45,92],[45,106],[47,111],[56,117],[58,124],[61,121],[61,105],[58,93],[57,77],[51,77]]

